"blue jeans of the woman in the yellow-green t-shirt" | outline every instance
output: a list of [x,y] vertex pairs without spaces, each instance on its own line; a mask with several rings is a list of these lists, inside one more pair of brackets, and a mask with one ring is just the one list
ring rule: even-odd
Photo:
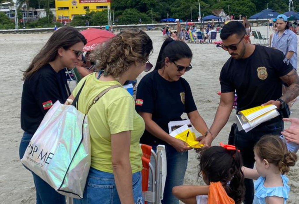
[[[143,204],[141,171],[132,174],[133,197],[136,204]],[[114,175],[90,168],[83,199],[73,199],[74,204],[120,204]]]

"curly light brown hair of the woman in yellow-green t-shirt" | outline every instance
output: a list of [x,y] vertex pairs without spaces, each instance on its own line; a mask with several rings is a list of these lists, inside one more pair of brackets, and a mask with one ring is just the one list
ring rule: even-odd
[[119,78],[135,62],[147,62],[153,50],[152,40],[136,28],[121,31],[106,43],[97,46],[91,53],[97,61],[97,70],[105,70],[106,75]]

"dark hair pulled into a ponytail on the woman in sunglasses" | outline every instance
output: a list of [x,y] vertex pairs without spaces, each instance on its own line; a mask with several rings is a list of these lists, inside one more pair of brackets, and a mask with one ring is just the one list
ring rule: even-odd
[[172,62],[180,60],[181,58],[192,59],[192,51],[186,43],[167,37],[161,46],[155,70],[164,67],[165,58],[169,58]]

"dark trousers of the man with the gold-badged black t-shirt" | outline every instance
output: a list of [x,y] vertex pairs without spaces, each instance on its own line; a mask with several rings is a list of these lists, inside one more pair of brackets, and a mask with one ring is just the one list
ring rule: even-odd
[[[243,165],[253,169],[254,167],[254,152],[255,143],[260,140],[263,135],[277,135],[283,131],[283,120],[280,116],[273,118],[270,121],[260,124],[251,131],[245,133],[244,130],[238,131],[235,128],[235,145],[240,150],[242,155]],[[245,179],[244,185],[246,188],[244,204],[251,204],[254,198],[254,184],[251,179]]]

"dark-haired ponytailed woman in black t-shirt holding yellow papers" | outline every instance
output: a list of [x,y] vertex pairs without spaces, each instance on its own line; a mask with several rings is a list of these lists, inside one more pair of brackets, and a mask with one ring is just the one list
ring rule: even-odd
[[179,203],[172,195],[174,186],[182,185],[187,168],[189,147],[182,140],[169,135],[168,123],[182,120],[187,113],[192,125],[202,135],[210,134],[199,115],[188,82],[182,78],[191,66],[192,52],[182,41],[167,38],[160,50],[155,70],[145,75],[137,89],[136,111],[145,121],[145,132],[140,142],[166,147],[167,178],[163,204]]

